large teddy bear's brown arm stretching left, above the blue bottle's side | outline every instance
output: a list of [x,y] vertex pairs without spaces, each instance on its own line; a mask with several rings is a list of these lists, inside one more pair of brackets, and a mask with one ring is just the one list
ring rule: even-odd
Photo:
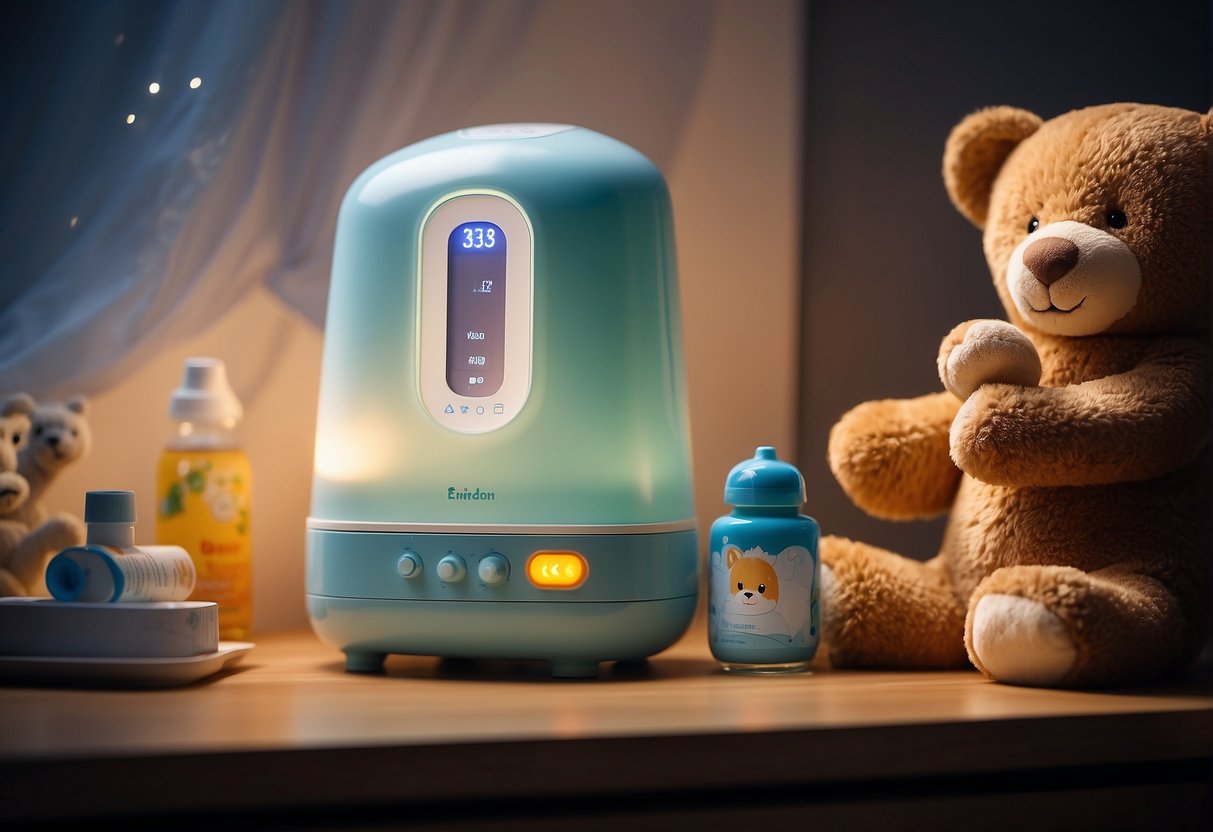
[[940,514],[952,505],[961,479],[949,457],[949,428],[959,406],[951,393],[865,401],[830,431],[830,469],[869,514]]

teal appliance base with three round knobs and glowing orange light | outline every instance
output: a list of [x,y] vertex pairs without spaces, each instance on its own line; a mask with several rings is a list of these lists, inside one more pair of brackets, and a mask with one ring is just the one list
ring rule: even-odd
[[677,642],[699,599],[694,522],[613,531],[309,525],[312,628],[354,672],[398,653],[543,660],[553,676],[592,677],[598,662]]

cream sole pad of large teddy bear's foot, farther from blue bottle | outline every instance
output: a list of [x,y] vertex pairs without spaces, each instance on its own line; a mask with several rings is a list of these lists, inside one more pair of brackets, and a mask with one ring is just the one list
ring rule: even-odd
[[986,676],[1019,685],[1057,684],[1077,657],[1065,623],[1044,604],[996,593],[973,611],[972,650]]

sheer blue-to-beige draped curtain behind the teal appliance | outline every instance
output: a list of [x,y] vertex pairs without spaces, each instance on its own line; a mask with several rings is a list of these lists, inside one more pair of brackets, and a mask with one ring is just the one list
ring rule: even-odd
[[[96,393],[264,285],[324,324],[370,163],[564,121],[667,165],[706,0],[35,0],[0,51],[0,394]],[[628,133],[613,130],[628,124]]]

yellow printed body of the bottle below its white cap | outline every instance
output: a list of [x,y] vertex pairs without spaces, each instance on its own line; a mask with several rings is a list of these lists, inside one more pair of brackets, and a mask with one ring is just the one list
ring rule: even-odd
[[181,546],[198,580],[190,600],[218,603],[220,638],[252,628],[251,467],[238,450],[165,451],[156,485],[156,542]]

